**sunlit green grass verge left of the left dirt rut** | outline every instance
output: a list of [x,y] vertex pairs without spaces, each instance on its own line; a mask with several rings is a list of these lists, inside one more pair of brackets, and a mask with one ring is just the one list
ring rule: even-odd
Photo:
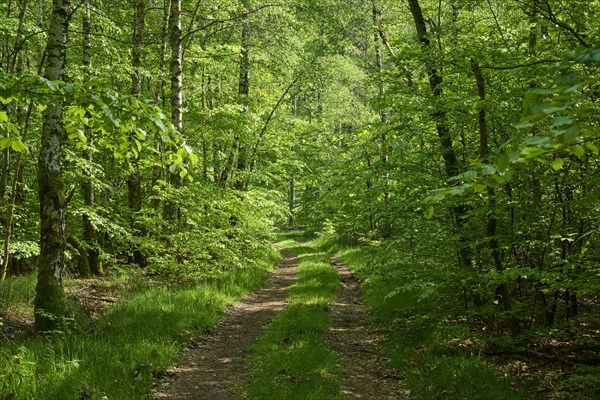
[[183,346],[215,325],[227,305],[260,287],[268,270],[265,264],[193,286],[141,290],[96,321],[91,333],[0,345],[0,399],[149,399],[153,379]]

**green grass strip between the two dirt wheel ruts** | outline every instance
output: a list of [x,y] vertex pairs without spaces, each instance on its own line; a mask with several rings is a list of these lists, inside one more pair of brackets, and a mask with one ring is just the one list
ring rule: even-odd
[[310,244],[294,238],[280,243],[302,260],[299,277],[288,293],[290,305],[249,349],[255,367],[246,387],[247,398],[339,399],[336,373],[340,360],[323,344],[331,325],[328,304],[339,288],[338,274],[328,257],[316,253]]

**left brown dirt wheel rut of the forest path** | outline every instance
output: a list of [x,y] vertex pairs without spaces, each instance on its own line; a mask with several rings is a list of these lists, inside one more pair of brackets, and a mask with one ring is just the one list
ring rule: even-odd
[[233,400],[248,368],[244,349],[287,305],[287,288],[296,280],[298,259],[285,254],[266,286],[226,311],[214,329],[188,347],[183,361],[168,372],[155,399]]

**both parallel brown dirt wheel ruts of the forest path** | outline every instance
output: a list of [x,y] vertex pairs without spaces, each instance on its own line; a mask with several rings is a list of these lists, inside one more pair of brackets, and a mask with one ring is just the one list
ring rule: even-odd
[[[296,279],[298,259],[284,256],[265,288],[229,308],[213,332],[188,346],[183,361],[167,372],[154,392],[155,399],[241,398],[238,391],[249,373],[244,350],[287,305],[287,288]],[[382,337],[368,326],[356,277],[339,260],[333,264],[341,288],[330,305],[333,324],[327,342],[344,360],[343,394],[348,399],[405,399],[398,377],[378,354]]]

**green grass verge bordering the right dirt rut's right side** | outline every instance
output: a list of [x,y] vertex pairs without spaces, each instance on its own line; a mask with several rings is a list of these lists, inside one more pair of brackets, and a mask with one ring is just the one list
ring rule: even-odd
[[492,364],[460,349],[460,343],[470,339],[469,328],[448,318],[453,305],[443,289],[417,280],[427,273],[424,268],[401,273],[411,266],[382,268],[378,260],[386,256],[378,253],[381,250],[322,245],[341,256],[364,282],[363,296],[373,321],[388,333],[385,356],[403,376],[411,399],[520,398],[510,379],[500,376]]

